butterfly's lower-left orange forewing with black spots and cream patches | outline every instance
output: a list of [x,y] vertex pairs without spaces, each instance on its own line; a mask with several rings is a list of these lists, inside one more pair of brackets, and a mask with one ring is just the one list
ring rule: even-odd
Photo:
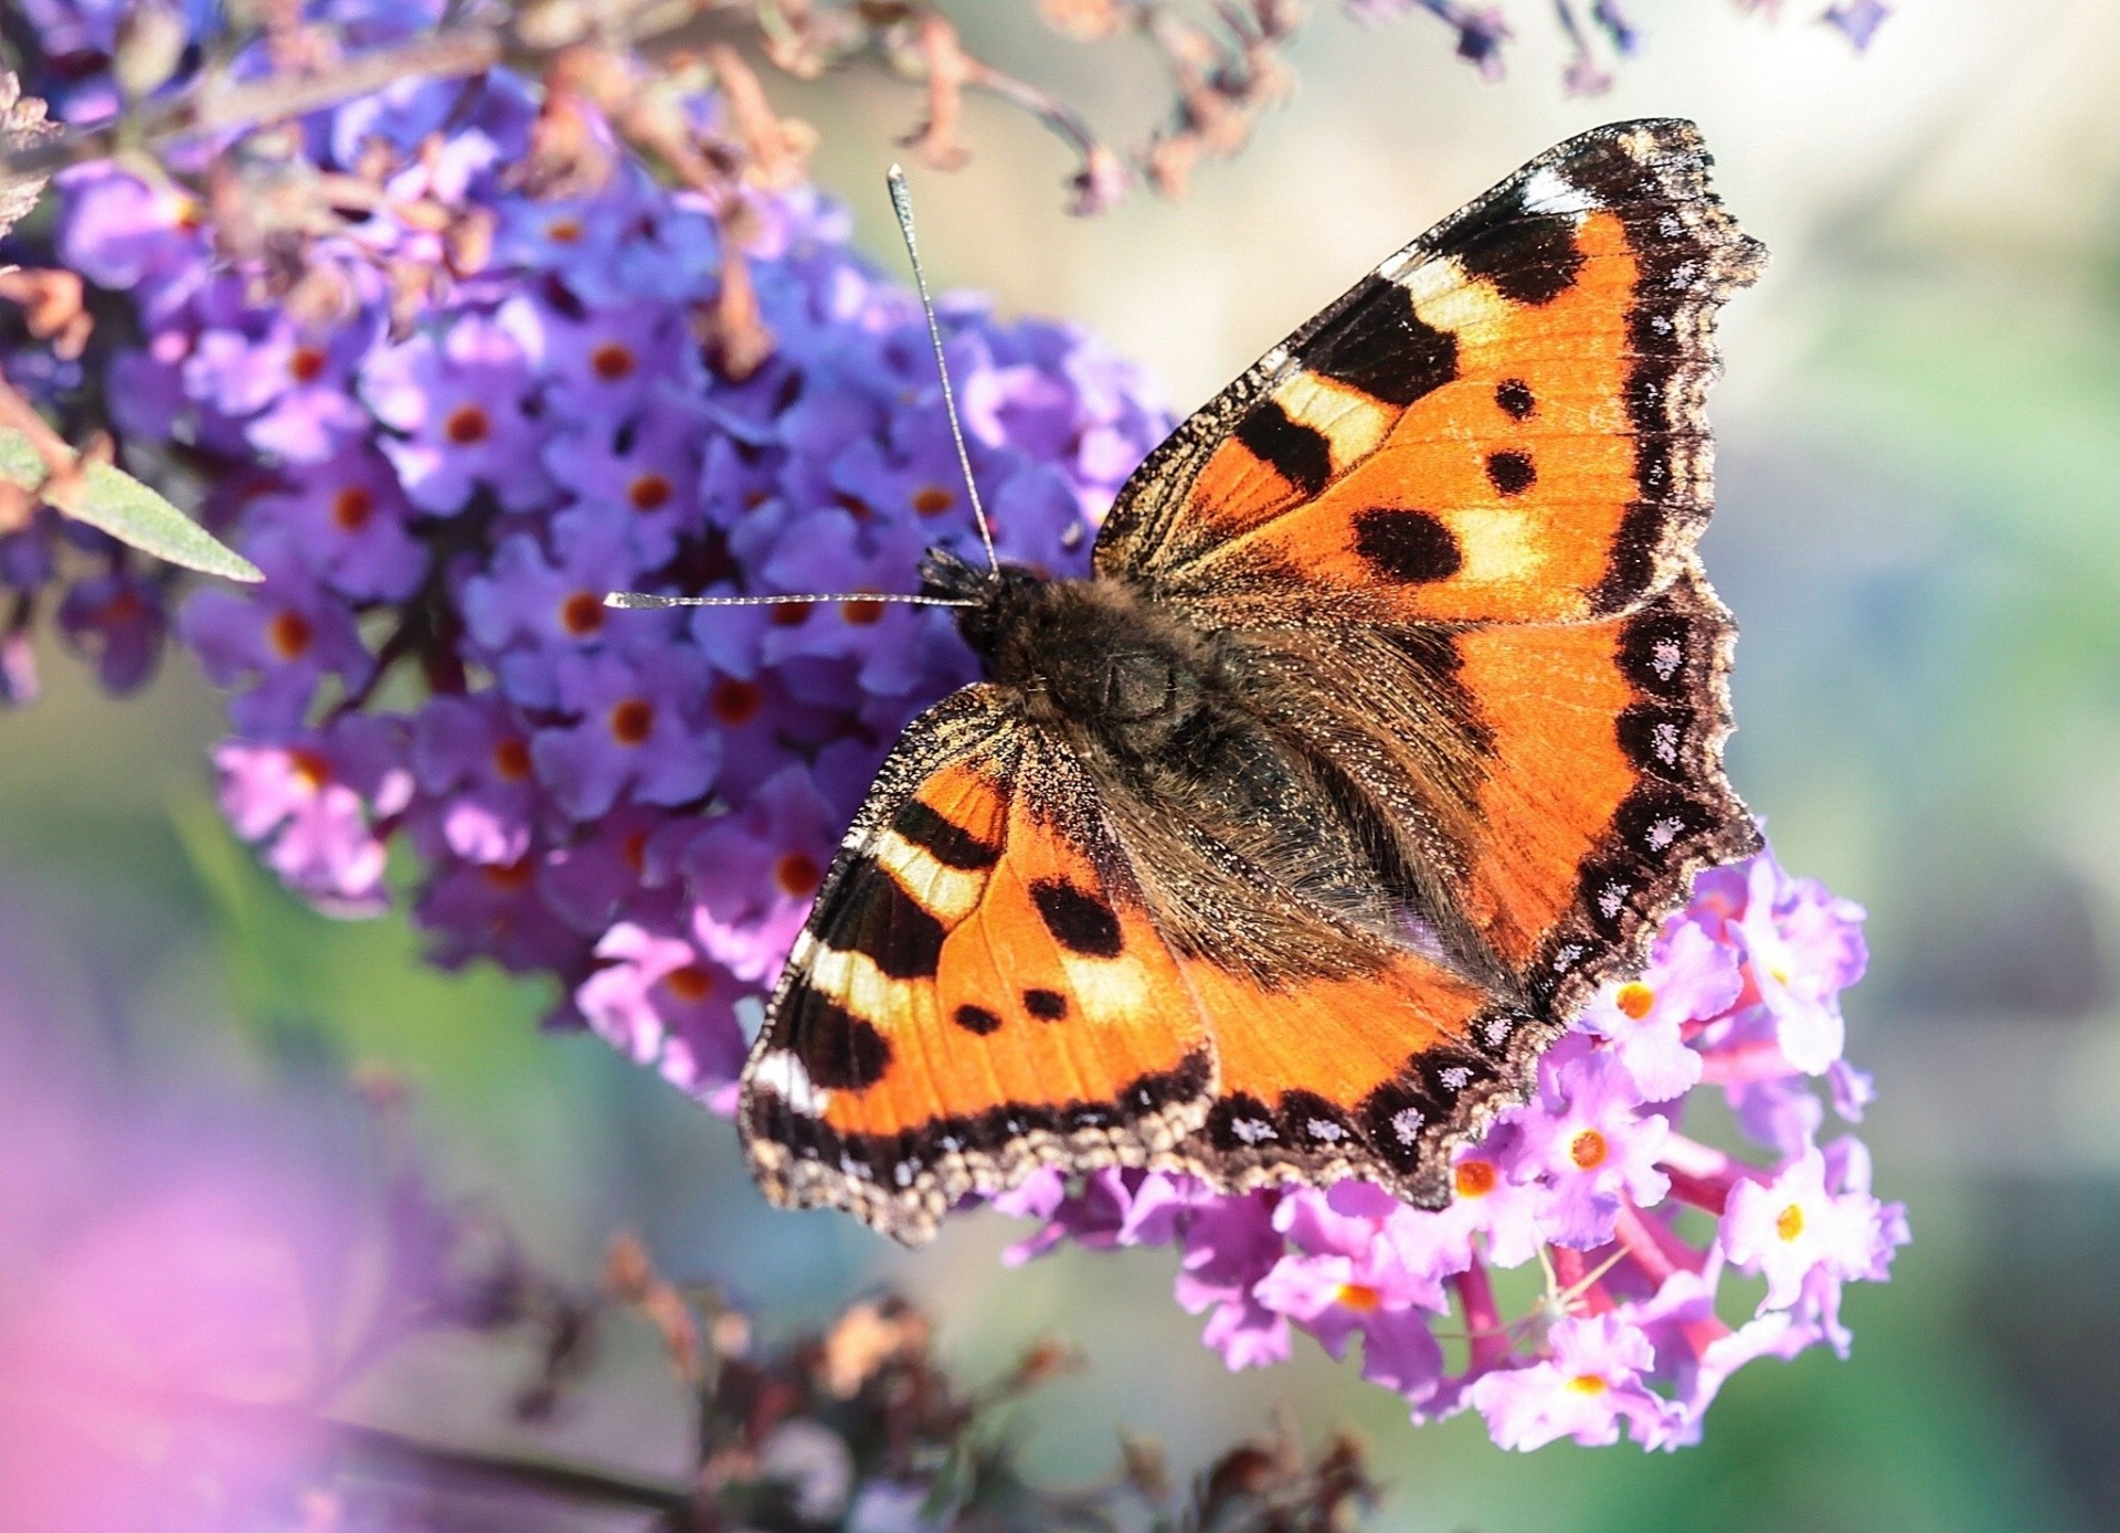
[[1213,1052],[1066,748],[994,687],[884,763],[767,1007],[740,1128],[767,1198],[907,1243],[1045,1164],[1149,1164]]

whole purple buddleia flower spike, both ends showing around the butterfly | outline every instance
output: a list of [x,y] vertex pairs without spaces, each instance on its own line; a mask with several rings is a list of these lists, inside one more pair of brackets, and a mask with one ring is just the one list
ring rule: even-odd
[[[799,182],[672,189],[587,110],[572,174],[543,174],[547,108],[490,70],[312,114],[273,144],[276,178],[337,189],[297,271],[273,237],[216,244],[184,180],[66,172],[57,257],[102,320],[55,399],[93,392],[127,454],[208,486],[204,517],[265,572],[197,589],[176,632],[227,689],[220,801],[271,869],[333,914],[403,897],[437,963],[551,975],[555,1024],[731,1111],[842,827],[975,668],[933,609],[604,594],[905,592],[924,549],[973,556],[975,532],[918,307],[844,210]],[[683,110],[717,140],[723,100]],[[1001,556],[1083,572],[1168,416],[1073,327],[973,297],[941,324]],[[106,655],[163,611],[112,577],[138,600],[87,604]],[[1690,1442],[1749,1357],[1844,1351],[1840,1285],[1906,1238],[1813,1092],[1844,1117],[1868,1094],[1840,1062],[1855,922],[1768,859],[1707,874],[1442,1213],[1143,1173],[999,1202],[1045,1219],[1020,1255],[1179,1247],[1179,1300],[1232,1365],[1359,1334],[1363,1374],[1425,1419],[1471,1406],[1512,1446]],[[1713,1090],[1764,1158],[1688,1136]],[[1495,1274],[1531,1264],[1539,1296],[1505,1312]],[[1766,1279],[1736,1323],[1732,1272]]]

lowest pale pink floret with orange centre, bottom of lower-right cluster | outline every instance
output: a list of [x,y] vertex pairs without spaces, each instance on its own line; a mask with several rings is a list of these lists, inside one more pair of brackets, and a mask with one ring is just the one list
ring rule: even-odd
[[1656,1363],[1649,1338],[1618,1315],[1565,1319],[1548,1332],[1552,1355],[1473,1380],[1467,1402],[1486,1416],[1503,1448],[1543,1448],[1573,1438],[1586,1446],[1620,1440],[1620,1423],[1645,1440],[1671,1425],[1671,1404],[1643,1374]]

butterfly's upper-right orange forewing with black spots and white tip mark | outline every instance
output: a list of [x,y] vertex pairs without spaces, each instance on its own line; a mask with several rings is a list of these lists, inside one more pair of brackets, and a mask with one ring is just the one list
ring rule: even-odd
[[1690,123],[1594,129],[1395,254],[1187,420],[1096,566],[1217,625],[1579,621],[1707,522],[1713,316],[1760,246]]

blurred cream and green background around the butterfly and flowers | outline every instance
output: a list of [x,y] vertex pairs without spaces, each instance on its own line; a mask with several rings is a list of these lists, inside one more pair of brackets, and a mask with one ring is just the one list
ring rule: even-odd
[[[1128,74],[1113,49],[960,11],[975,49],[1115,138],[1164,102],[1147,59]],[[182,662],[114,704],[49,655],[49,695],[0,719],[4,963],[36,954],[38,1005],[151,1096],[299,1113],[348,1067],[399,1071],[443,1181],[562,1270],[638,1228],[774,1332],[888,1281],[975,1378],[1062,1334],[1092,1368],[1022,1421],[1054,1476],[1107,1469],[1115,1425],[1194,1463],[1285,1404],[1310,1433],[1363,1431],[1389,1529],[2120,1527],[2120,11],[1908,0],[1855,57],[1806,6],[1768,23],[1639,0],[1649,51],[1601,100],[1560,95],[1545,8],[1516,11],[1497,85],[1427,17],[1321,15],[1295,100],[1240,159],[1181,206],[1094,223],[1060,214],[1058,148],[975,110],[971,168],[918,180],[922,248],[946,286],[1081,318],[1185,409],[1565,134],[1702,123],[1726,201],[1774,252],[1730,310],[1713,399],[1707,553],[1745,628],[1732,770],[1783,861],[1870,910],[1849,1052],[1883,1090],[1878,1192],[1914,1228],[1893,1283],[1851,1291],[1851,1361],[1747,1368],[1675,1457],[1514,1457],[1478,1421],[1410,1427],[1314,1349],[1225,1374],[1170,1302],[1168,1253],[1003,1270],[994,1217],[905,1255],[774,1213],[725,1124],[591,1039],[538,1035],[536,986],[437,975],[401,920],[278,893],[212,810],[218,704]],[[772,85],[893,261],[880,168],[912,95]],[[617,1346],[538,1433],[505,1423],[511,1378],[477,1349],[413,1349],[363,1408],[676,1467],[651,1346]]]

